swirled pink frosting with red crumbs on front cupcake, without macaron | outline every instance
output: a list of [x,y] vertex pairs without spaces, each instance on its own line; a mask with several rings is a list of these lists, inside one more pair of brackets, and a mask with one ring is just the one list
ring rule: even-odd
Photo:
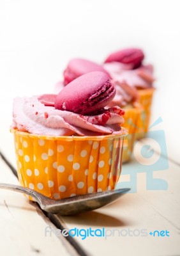
[[93,116],[54,108],[56,95],[17,97],[13,102],[13,125],[19,131],[49,136],[96,136],[122,134],[124,111],[114,107]]

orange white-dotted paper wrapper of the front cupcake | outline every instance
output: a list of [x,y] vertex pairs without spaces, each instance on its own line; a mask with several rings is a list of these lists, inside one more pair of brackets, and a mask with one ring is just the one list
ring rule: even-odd
[[12,132],[22,186],[53,199],[116,187],[125,131],[123,135],[83,137]]

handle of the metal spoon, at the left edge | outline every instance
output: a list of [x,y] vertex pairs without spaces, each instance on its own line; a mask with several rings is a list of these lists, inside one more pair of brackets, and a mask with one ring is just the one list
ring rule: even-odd
[[38,204],[41,204],[41,194],[34,191],[33,189],[30,188],[25,188],[19,185],[13,185],[13,184],[8,184],[8,183],[1,183],[0,182],[0,188],[2,189],[8,189],[12,191],[17,191],[19,193],[23,193],[29,196],[32,196]]

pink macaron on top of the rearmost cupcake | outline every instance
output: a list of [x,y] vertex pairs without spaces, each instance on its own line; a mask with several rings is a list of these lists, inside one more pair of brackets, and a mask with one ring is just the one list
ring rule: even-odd
[[117,61],[124,64],[133,64],[133,68],[137,68],[140,67],[143,59],[144,53],[141,49],[128,48],[121,51],[113,52],[107,57],[105,63]]

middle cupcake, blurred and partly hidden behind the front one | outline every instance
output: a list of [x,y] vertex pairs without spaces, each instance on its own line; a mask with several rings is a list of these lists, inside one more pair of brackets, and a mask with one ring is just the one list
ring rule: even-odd
[[[126,65],[124,65],[124,68],[127,68]],[[56,84],[56,93],[59,93],[59,91],[62,90],[66,84],[73,81],[73,79],[93,71],[104,72],[111,78],[114,86],[116,86],[116,95],[107,107],[119,106],[126,110],[123,127],[128,130],[128,136],[126,136],[126,139],[124,140],[123,163],[130,161],[131,152],[135,142],[135,134],[137,133],[140,111],[142,110],[141,105],[137,102],[139,100],[139,93],[136,88],[133,88],[128,84],[120,84],[117,79],[112,79],[112,76],[110,75],[110,73],[112,73],[111,70],[109,72],[109,70],[106,70],[98,63],[82,58],[73,58],[64,69],[63,82]]]

